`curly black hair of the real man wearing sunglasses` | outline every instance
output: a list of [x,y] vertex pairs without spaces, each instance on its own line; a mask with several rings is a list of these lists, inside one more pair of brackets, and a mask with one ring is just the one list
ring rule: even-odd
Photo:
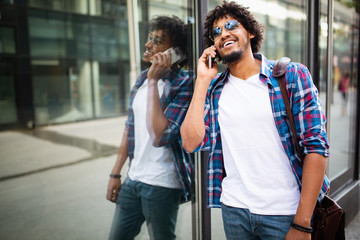
[[236,19],[244,26],[246,31],[255,36],[250,40],[251,49],[253,53],[259,52],[261,49],[261,43],[264,40],[264,27],[255,20],[254,16],[248,11],[248,8],[237,4],[236,2],[226,1],[223,1],[222,5],[216,6],[206,16],[204,34],[205,47],[208,48],[214,44],[209,37],[210,31],[213,29],[214,22],[225,16],[231,16]]

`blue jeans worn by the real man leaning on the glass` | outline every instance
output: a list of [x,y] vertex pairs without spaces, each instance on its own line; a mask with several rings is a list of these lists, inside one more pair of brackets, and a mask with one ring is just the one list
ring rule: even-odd
[[226,239],[285,239],[295,215],[259,215],[221,204]]

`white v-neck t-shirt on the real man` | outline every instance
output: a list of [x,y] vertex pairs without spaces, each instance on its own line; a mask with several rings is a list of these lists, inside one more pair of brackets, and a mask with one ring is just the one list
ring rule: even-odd
[[295,214],[300,191],[259,74],[247,80],[229,76],[219,124],[226,171],[220,201],[255,214]]

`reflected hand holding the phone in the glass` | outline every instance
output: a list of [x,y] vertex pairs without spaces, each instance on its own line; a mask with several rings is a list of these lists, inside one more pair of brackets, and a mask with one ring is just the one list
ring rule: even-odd
[[170,72],[171,67],[171,53],[168,51],[166,55],[163,52],[156,53],[151,58],[151,67],[148,71],[147,77],[149,80],[159,80]]

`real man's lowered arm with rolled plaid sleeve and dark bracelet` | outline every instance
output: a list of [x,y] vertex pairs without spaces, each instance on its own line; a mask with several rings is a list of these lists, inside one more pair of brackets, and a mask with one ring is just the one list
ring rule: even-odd
[[[325,131],[325,115],[321,109],[318,91],[309,70],[296,65],[292,72],[295,84],[292,111],[300,147],[303,149],[301,195],[294,223],[310,227],[311,217],[325,178],[328,142]],[[311,119],[311,121],[309,121]],[[286,239],[311,239],[311,234],[290,228]]]

